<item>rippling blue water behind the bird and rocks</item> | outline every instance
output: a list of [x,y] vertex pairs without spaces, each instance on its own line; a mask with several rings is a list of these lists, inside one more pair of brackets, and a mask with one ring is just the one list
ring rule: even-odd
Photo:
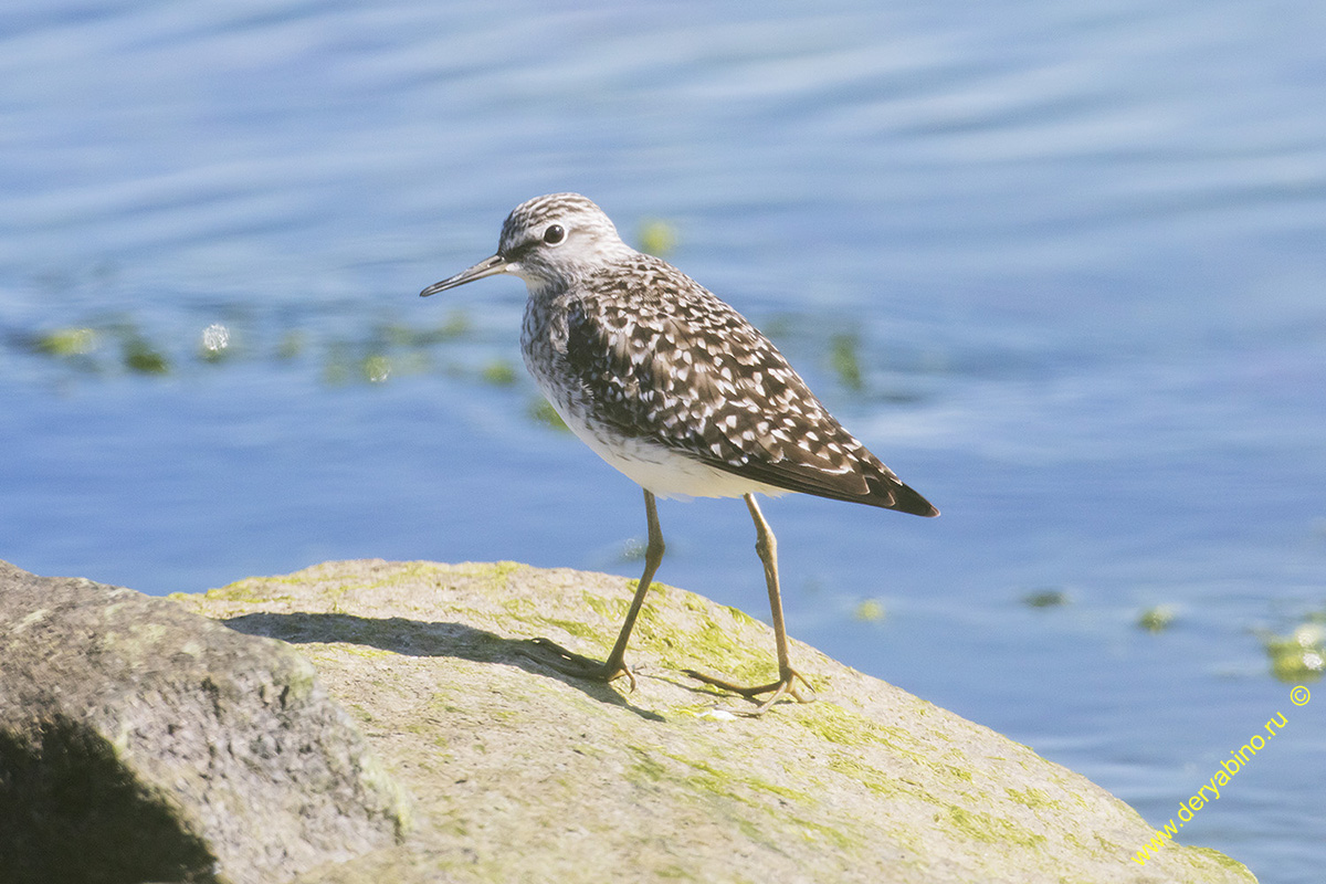
[[[1158,826],[1284,713],[1181,840],[1319,881],[1326,685],[1257,631],[1326,608],[1326,5],[875,5],[0,13],[0,558],[636,577],[638,489],[530,417],[524,286],[415,297],[577,190],[944,512],[770,501],[793,635]],[[660,517],[660,579],[764,612],[740,502]]]

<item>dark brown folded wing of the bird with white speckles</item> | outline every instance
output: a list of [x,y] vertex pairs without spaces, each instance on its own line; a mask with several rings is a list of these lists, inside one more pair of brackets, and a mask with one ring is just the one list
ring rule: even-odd
[[671,265],[638,256],[568,301],[566,358],[611,432],[793,492],[937,516],[825,410],[777,347]]

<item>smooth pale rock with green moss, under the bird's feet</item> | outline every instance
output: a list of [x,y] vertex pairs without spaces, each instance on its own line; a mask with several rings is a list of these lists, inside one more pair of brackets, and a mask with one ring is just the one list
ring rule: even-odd
[[341,562],[176,596],[293,641],[416,798],[404,844],[301,884],[424,881],[1253,881],[1087,779],[794,643],[819,700],[762,718],[682,675],[768,677],[769,630],[660,587],[639,687],[520,655],[603,655],[631,587],[518,565]]

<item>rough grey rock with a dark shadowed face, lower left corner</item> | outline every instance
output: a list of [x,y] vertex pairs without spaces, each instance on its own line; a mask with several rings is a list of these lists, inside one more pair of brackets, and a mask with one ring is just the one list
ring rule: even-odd
[[0,562],[0,881],[271,884],[404,823],[289,645]]

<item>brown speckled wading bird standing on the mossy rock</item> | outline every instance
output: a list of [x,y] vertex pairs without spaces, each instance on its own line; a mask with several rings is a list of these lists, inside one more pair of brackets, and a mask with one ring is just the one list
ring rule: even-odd
[[625,676],[634,691],[626,645],[664,553],[656,498],[741,497],[764,566],[778,677],[737,685],[686,675],[758,702],[756,716],[785,696],[813,700],[788,653],[777,541],[754,496],[798,492],[924,517],[939,510],[829,414],[769,338],[682,270],[627,245],[590,199],[549,193],[521,203],[495,254],[419,294],[499,274],[528,289],[525,367],[566,427],[644,490],[648,530],[644,573],[607,659],[548,639],[530,640],[526,656],[575,679]]

